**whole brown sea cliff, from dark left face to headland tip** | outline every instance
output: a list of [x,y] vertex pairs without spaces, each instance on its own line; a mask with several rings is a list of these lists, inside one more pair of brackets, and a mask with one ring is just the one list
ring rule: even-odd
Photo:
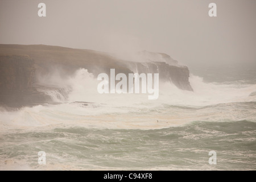
[[88,49],[0,44],[0,55],[2,105],[49,102],[49,96],[38,92],[40,88],[36,85],[36,75],[47,75],[53,68],[60,69],[60,76],[63,77],[73,74],[78,68],[88,69],[95,77],[100,73],[110,74],[110,68],[115,68],[116,74],[159,73],[160,80],[172,82],[183,90],[193,90],[189,84],[188,68],[164,53],[139,52],[139,63],[137,60],[121,60],[109,53]]

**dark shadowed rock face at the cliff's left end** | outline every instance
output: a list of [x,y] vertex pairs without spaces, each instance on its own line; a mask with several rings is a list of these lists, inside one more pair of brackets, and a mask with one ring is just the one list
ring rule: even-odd
[[0,55],[0,104],[20,107],[42,103],[48,99],[33,87],[34,60],[29,56]]

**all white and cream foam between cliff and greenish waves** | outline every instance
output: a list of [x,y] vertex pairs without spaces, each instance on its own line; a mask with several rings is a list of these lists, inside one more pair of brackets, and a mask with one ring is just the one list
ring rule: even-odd
[[[174,84],[161,83],[158,100],[147,100],[147,94],[99,94],[96,78],[86,69],[79,69],[74,76],[61,81],[72,88],[67,103],[23,107],[19,111],[1,109],[1,131],[48,125],[99,129],[161,129],[191,121],[221,121],[223,118],[223,114],[213,108],[184,111],[170,109],[163,104],[198,108],[229,102],[256,101],[256,96],[249,96],[256,90],[256,85],[205,83],[202,78],[193,75],[189,81],[194,92],[180,90]],[[223,119],[246,119],[246,111],[241,112],[238,116],[236,111],[230,110]],[[255,117],[250,119],[255,120]]]

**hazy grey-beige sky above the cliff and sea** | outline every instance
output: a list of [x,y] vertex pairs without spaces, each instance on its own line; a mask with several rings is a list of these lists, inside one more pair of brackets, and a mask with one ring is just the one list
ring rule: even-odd
[[[38,4],[46,4],[46,17]],[[209,3],[217,17],[210,17]],[[0,0],[1,44],[126,55],[163,52],[186,65],[256,62],[255,0]]]

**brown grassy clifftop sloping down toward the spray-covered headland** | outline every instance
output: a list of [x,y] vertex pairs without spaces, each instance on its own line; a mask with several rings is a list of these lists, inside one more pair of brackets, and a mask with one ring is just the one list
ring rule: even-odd
[[108,53],[88,49],[73,49],[59,46],[0,44],[0,54],[28,55],[35,60],[36,71],[47,72],[52,67],[61,67],[73,72],[77,68],[86,68],[94,75],[109,72],[115,68],[117,72],[128,73],[129,69],[121,60]]

